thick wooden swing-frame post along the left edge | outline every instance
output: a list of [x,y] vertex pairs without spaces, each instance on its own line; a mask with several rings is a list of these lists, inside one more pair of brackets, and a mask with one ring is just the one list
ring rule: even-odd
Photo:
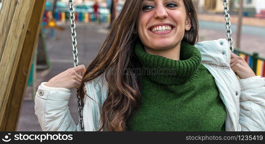
[[0,130],[15,131],[46,0],[3,1],[0,12]]

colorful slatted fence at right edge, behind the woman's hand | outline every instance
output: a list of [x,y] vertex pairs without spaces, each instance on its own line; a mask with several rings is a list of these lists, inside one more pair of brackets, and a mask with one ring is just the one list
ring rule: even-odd
[[259,57],[258,53],[249,54],[237,48],[233,53],[244,58],[256,75],[265,77],[265,58]]

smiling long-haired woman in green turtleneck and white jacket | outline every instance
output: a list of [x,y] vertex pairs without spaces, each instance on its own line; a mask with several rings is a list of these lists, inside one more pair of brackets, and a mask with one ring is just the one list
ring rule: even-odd
[[67,106],[79,88],[86,131],[265,130],[264,78],[225,39],[197,39],[193,0],[126,0],[87,69],[39,86],[42,129],[79,129]]

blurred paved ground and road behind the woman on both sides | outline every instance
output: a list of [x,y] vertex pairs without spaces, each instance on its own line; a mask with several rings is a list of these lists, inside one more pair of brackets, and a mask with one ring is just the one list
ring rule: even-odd
[[[73,67],[73,55],[71,46],[70,29],[68,25],[65,31],[55,31],[54,39],[47,39],[47,47],[52,67],[46,71],[37,72],[36,85],[41,82],[47,82],[55,75]],[[79,64],[88,65],[94,58],[101,42],[108,33],[107,25],[84,25],[77,24],[77,42]],[[200,41],[226,38],[225,28],[223,24],[212,22],[200,22]],[[235,29],[232,26],[232,30]],[[233,31],[234,32],[234,31]],[[242,50],[248,52],[258,51],[261,56],[265,57],[265,28],[243,27]],[[235,36],[233,35],[235,39]],[[69,109],[71,115],[77,124],[77,101],[75,91],[72,90],[71,99],[69,101]],[[40,131],[40,125],[34,114],[34,101],[30,101],[30,91],[26,92],[25,101],[23,103],[21,117],[18,124],[18,131]]]

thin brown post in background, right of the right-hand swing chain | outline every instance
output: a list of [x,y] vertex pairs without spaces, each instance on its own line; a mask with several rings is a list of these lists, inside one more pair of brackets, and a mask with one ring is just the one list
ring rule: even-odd
[[240,48],[241,42],[241,30],[242,30],[242,17],[243,17],[243,0],[239,0],[239,10],[238,10],[238,24],[236,30],[236,47]]

